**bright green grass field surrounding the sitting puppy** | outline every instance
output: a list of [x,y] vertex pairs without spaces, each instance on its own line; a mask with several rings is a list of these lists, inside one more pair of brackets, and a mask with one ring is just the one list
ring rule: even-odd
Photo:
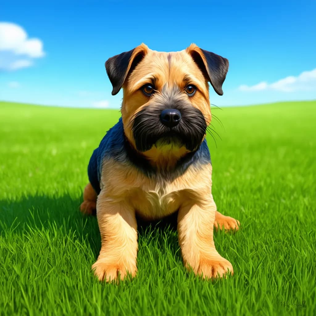
[[215,233],[234,276],[182,265],[177,232],[139,229],[138,274],[91,273],[95,217],[79,211],[87,164],[118,110],[0,103],[0,315],[315,315],[316,101],[212,109]]

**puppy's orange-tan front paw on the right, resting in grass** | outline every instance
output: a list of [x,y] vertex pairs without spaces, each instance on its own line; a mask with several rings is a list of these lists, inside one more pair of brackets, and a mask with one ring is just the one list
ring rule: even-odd
[[196,274],[202,276],[203,279],[216,279],[226,277],[228,270],[232,275],[234,274],[232,264],[225,258],[219,256],[201,260]]

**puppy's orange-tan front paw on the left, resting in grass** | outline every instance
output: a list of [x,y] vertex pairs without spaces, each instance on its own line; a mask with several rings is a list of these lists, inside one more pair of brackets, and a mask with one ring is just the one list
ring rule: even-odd
[[123,280],[130,274],[132,277],[136,276],[137,267],[131,266],[126,268],[123,264],[113,264],[107,261],[97,260],[92,265],[94,275],[98,277],[99,281],[117,282]]

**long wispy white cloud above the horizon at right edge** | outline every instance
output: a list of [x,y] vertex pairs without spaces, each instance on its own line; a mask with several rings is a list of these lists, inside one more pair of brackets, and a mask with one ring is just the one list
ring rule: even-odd
[[297,77],[288,76],[270,84],[260,82],[254,86],[241,85],[238,89],[240,91],[316,91],[316,68],[310,71],[304,71]]

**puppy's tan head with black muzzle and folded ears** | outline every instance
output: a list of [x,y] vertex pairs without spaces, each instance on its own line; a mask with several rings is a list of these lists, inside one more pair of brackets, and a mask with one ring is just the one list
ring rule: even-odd
[[137,151],[168,161],[199,148],[211,121],[208,82],[223,94],[226,58],[195,44],[180,52],[156,52],[141,44],[105,66],[112,94],[123,87],[124,132]]

